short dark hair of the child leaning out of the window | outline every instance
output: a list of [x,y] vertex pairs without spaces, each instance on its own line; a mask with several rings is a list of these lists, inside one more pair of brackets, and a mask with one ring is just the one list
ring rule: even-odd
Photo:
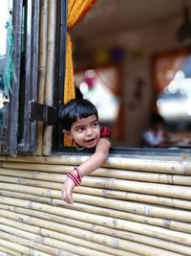
[[73,99],[60,109],[59,120],[62,127],[70,131],[77,118],[87,118],[91,115],[96,115],[98,119],[94,104],[86,99]]

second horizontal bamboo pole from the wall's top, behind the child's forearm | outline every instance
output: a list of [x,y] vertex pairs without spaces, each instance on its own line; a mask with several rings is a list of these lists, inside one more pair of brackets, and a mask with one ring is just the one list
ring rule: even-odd
[[[6,169],[6,170],[5,170]],[[12,170],[13,169],[13,170]],[[6,163],[3,164],[3,168],[0,168],[0,173],[2,175],[8,172],[14,172],[15,169],[19,170],[19,174],[22,175],[22,171],[37,171],[37,172],[49,172],[49,173],[61,173],[67,174],[73,170],[73,166],[51,166],[50,165],[39,165],[39,164],[20,164],[20,163]],[[187,178],[185,175],[169,175],[169,174],[156,174],[156,173],[145,173],[137,171],[128,171],[128,170],[115,170],[115,169],[106,169],[100,168],[96,170],[93,176],[107,176],[107,177],[116,177],[119,179],[131,179],[131,180],[140,180],[147,182],[156,182],[156,183],[165,183],[165,184],[174,184],[174,185],[191,185],[191,179]]]

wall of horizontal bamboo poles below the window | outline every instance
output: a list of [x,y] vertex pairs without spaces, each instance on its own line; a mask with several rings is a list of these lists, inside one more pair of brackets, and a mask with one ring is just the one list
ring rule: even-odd
[[0,158],[0,255],[191,255],[189,155],[111,155],[68,205],[62,182],[85,159]]

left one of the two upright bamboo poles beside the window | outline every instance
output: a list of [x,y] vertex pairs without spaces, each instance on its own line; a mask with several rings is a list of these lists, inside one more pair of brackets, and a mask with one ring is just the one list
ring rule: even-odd
[[[47,0],[40,1],[40,40],[39,40],[39,67],[38,67],[38,103],[44,104],[44,91],[46,79],[47,62],[47,25],[48,25],[48,3]],[[36,154],[42,155],[43,151],[43,123],[37,123],[37,145]]]

